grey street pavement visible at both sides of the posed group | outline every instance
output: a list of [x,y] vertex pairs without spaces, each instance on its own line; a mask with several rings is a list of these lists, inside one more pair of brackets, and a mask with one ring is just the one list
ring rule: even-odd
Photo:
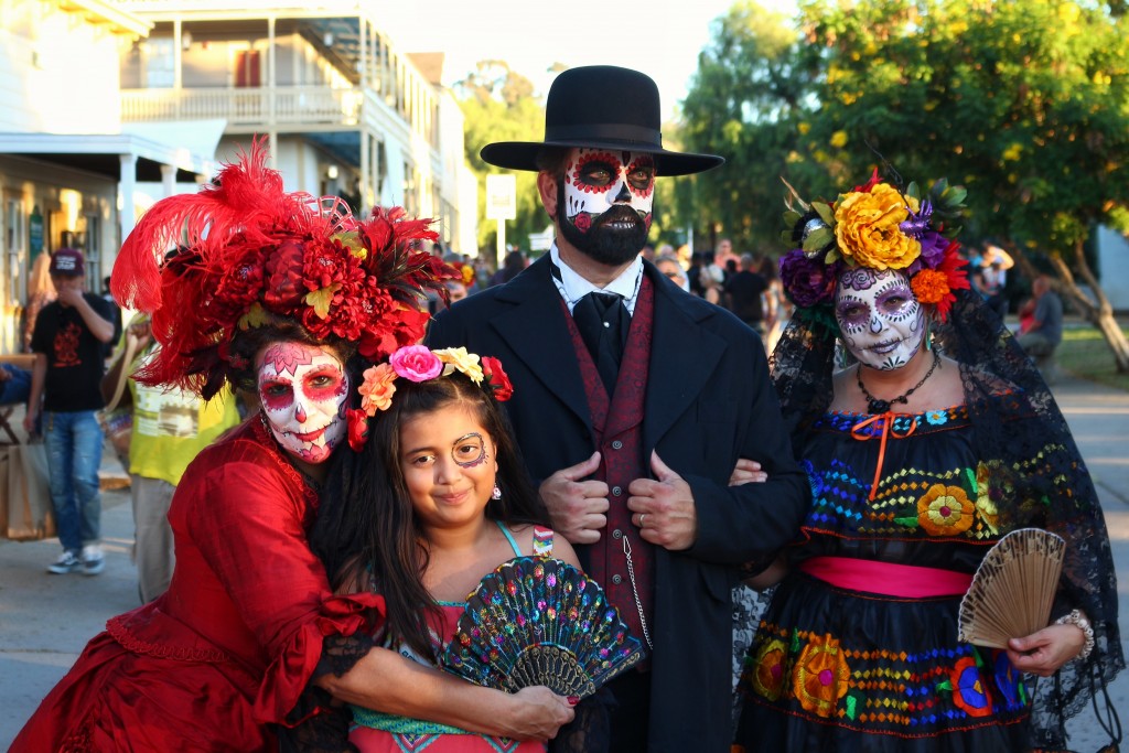
[[[1056,399],[1097,485],[1113,544],[1122,643],[1129,643],[1129,393],[1061,376]],[[19,417],[16,417],[17,419]],[[18,421],[14,421],[18,423]],[[103,473],[114,485],[123,473],[113,453]],[[59,541],[0,541],[0,750],[7,750],[43,697],[65,674],[108,618],[139,605],[130,560],[133,518],[128,489],[103,492],[106,569],[99,576],[56,576],[46,566]],[[1126,646],[1129,654],[1129,646]],[[1110,689],[1129,727],[1129,672]],[[1070,723],[1070,747],[1096,751],[1108,742],[1086,710]]]

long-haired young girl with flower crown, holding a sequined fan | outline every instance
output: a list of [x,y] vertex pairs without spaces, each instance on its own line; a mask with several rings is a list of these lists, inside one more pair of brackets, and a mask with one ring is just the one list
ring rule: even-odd
[[[499,564],[534,554],[579,562],[544,527],[548,513],[499,406],[511,387],[497,359],[410,345],[367,369],[349,415],[358,453],[340,467],[315,549],[339,593],[384,597],[384,646],[434,666],[466,595]],[[412,717],[357,704],[350,742],[365,752],[545,750]]]

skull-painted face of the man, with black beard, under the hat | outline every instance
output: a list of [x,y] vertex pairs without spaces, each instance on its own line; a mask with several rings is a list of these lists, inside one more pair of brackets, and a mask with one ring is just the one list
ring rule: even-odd
[[598,262],[621,264],[642,249],[655,203],[651,155],[574,148],[558,190],[562,235]]

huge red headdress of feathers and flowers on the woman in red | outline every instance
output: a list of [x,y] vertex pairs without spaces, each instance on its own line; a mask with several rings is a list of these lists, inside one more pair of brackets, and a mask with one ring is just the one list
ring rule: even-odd
[[444,295],[456,274],[415,248],[438,238],[430,224],[401,208],[360,220],[335,196],[287,193],[253,142],[198,193],[154,204],[122,245],[111,290],[152,314],[161,344],[138,380],[211,396],[246,366],[229,361],[237,329],[277,317],[322,341],[356,342],[371,360],[417,342],[423,292]]

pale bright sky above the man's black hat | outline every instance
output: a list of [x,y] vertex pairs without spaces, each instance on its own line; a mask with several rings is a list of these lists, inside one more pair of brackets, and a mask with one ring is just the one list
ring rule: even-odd
[[[555,62],[569,68],[633,68],[658,84],[671,119],[709,42],[710,23],[734,0],[599,2],[588,8],[543,0],[377,0],[383,28],[401,52],[444,52],[444,84],[480,60],[505,60],[542,93]],[[790,0],[761,0],[789,11]]]

